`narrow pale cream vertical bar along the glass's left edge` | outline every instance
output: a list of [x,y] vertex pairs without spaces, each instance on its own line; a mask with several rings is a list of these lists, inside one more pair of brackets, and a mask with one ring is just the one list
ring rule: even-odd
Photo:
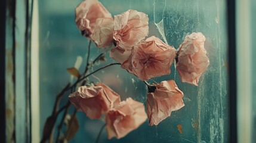
[[38,0],[33,0],[31,37],[31,130],[32,142],[40,142],[40,101],[39,101],[39,11]]

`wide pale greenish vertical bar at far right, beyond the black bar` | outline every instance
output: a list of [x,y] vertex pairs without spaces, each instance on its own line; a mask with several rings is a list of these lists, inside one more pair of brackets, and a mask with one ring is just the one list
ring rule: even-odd
[[252,142],[251,0],[236,1],[238,142]]

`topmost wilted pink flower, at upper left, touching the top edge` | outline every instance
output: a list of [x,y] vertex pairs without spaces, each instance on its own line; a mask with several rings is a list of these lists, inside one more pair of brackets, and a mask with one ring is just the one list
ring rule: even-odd
[[85,0],[76,7],[76,26],[88,38],[94,32],[97,19],[104,17],[111,18],[111,14],[98,0]]

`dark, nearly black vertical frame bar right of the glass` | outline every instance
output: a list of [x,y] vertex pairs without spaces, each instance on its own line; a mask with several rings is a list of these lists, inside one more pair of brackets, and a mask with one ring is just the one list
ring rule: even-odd
[[238,142],[236,84],[236,2],[227,0],[227,30],[229,36],[229,142]]

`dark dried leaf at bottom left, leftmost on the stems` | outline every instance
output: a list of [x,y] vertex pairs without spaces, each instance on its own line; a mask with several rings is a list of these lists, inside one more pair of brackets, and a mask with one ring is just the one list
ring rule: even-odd
[[47,118],[44,125],[43,138],[48,139],[51,136],[54,128],[55,120],[56,120],[55,116],[50,116]]

